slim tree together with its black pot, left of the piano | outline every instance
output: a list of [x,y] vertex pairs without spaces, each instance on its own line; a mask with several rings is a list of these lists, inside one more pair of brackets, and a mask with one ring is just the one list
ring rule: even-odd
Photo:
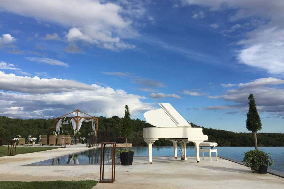
[[132,125],[130,124],[130,113],[128,105],[125,105],[123,124],[117,124],[117,130],[120,135],[125,137],[125,149],[118,150],[121,165],[132,165],[134,152],[128,149],[128,138],[132,133]]

